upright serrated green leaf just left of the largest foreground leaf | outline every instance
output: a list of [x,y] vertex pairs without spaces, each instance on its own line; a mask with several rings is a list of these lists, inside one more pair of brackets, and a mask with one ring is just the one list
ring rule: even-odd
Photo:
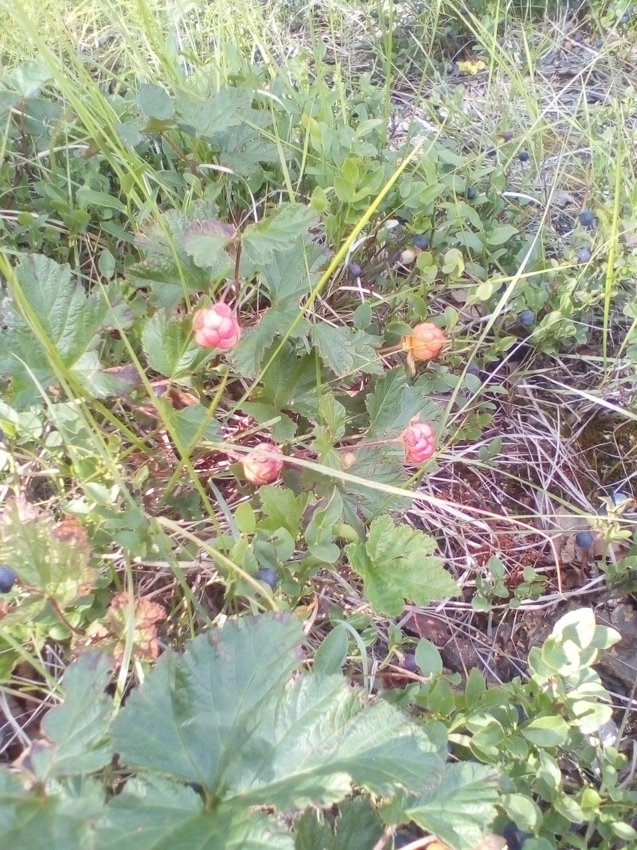
[[113,700],[104,693],[110,683],[110,667],[105,655],[88,652],[66,668],[62,680],[65,701],[42,721],[42,732],[54,747],[35,749],[31,756],[38,779],[93,774],[110,762],[113,748],[108,729]]

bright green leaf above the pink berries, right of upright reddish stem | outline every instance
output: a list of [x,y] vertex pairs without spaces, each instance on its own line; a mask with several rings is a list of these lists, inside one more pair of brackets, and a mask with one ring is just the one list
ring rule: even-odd
[[275,251],[292,248],[299,236],[307,235],[318,221],[312,207],[304,204],[281,204],[257,224],[245,228],[242,243],[247,256],[256,265],[273,258]]

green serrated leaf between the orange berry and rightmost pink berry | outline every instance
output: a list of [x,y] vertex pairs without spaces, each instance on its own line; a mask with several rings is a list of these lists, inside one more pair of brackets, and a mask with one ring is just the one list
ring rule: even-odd
[[402,366],[378,378],[373,391],[367,395],[365,405],[369,412],[369,437],[400,433],[414,416],[422,422],[436,422],[440,408],[431,400],[428,382],[419,379],[409,385]]

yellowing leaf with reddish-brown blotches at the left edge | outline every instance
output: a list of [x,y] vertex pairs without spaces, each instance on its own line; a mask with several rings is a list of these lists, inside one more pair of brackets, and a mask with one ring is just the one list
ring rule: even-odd
[[22,499],[9,501],[4,508],[0,563],[8,564],[26,586],[55,598],[62,608],[89,592],[97,577],[82,525],[76,519],[55,524]]

